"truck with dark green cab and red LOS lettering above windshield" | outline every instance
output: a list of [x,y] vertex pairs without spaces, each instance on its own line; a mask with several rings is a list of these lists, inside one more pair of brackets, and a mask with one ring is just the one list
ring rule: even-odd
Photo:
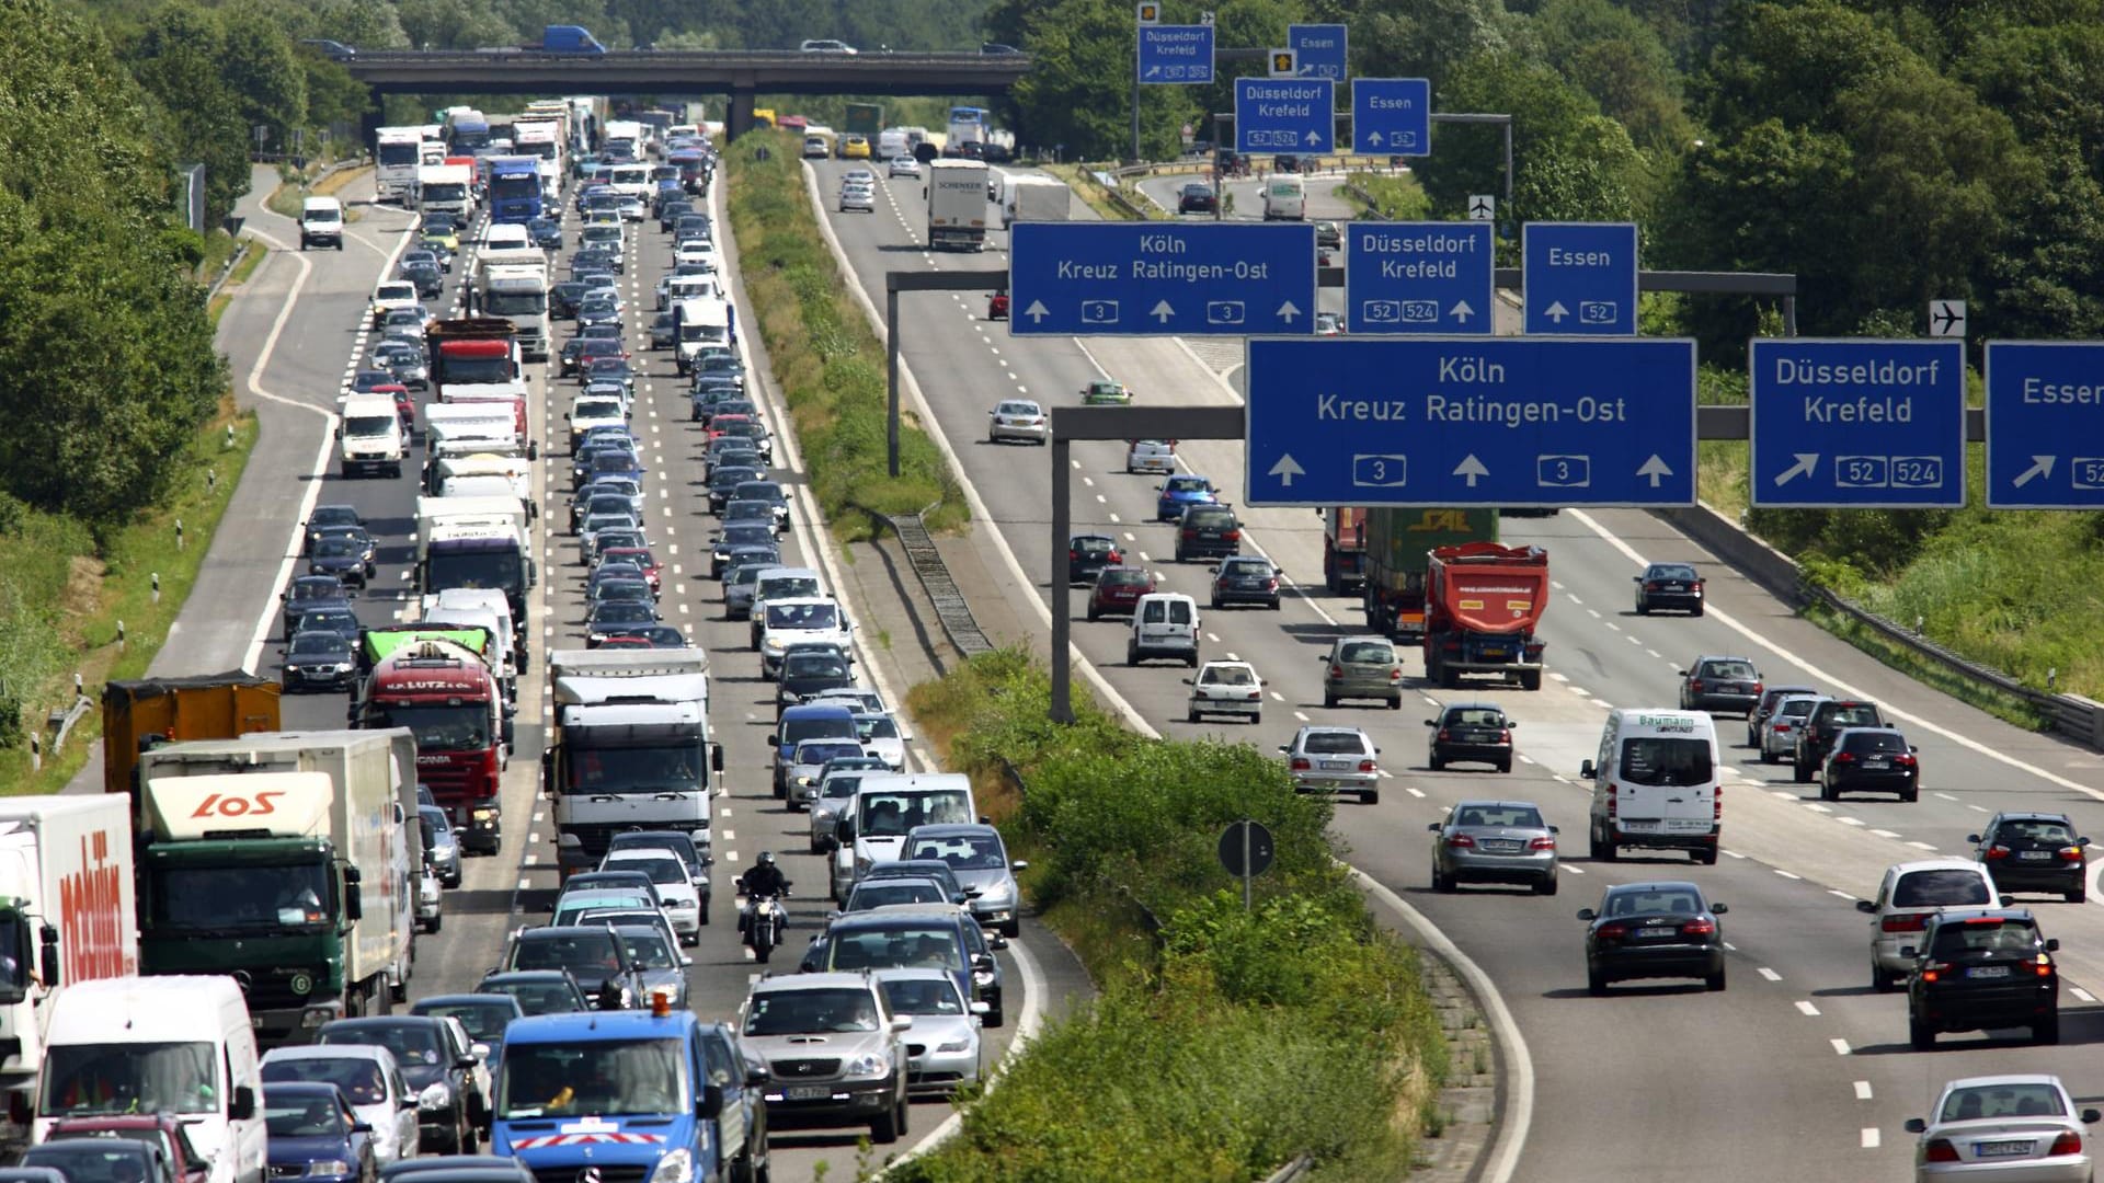
[[265,1046],[406,998],[423,857],[406,728],[170,743],[139,773],[143,973],[246,981]]

